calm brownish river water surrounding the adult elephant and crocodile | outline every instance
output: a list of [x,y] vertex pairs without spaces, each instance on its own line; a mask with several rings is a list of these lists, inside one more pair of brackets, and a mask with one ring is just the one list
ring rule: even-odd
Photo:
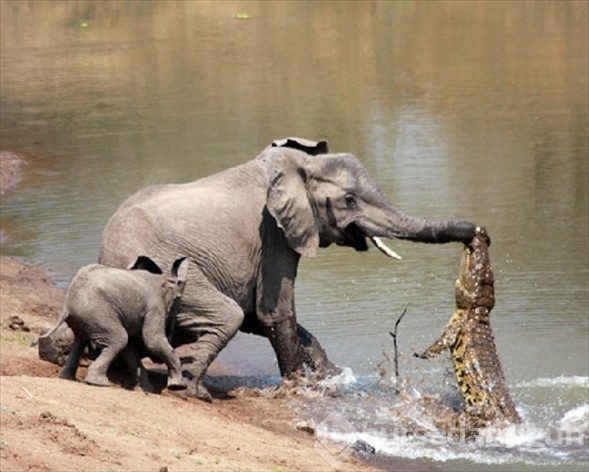
[[[10,237],[2,254],[27,257],[65,285],[96,260],[104,224],[136,190],[236,165],[277,137],[326,138],[359,156],[404,211],[487,226],[493,327],[526,424],[558,431],[567,415],[585,414],[587,3],[0,8],[2,149],[38,156],[18,191],[2,196],[0,225]],[[252,18],[235,19],[238,12]],[[410,356],[452,312],[461,248],[392,245],[402,261],[330,248],[301,265],[299,319],[358,379],[322,414],[368,411],[370,396],[384,398],[379,407],[394,401],[374,380],[375,366],[405,307],[403,374],[422,376],[420,389],[452,391],[447,360]],[[243,378],[277,372],[268,343],[253,336],[239,335],[221,360]],[[349,414],[369,435],[386,422],[361,417]],[[398,438],[386,437],[380,452],[441,468],[449,460],[451,469],[585,467],[587,442],[571,452],[545,438],[541,454],[530,441],[461,452],[411,438],[393,448]]]

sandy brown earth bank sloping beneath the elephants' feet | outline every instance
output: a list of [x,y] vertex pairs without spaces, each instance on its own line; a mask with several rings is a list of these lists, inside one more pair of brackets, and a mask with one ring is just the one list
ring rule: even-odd
[[[29,345],[57,318],[63,290],[7,257],[0,289],[3,472],[335,470],[295,429],[285,398],[239,389],[206,404],[57,378]],[[374,469],[350,457],[337,470]]]

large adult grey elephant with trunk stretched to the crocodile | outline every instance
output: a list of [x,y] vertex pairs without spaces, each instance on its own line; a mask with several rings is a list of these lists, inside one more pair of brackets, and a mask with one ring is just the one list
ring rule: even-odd
[[468,242],[466,221],[426,221],[395,209],[351,154],[325,141],[274,141],[255,159],[196,182],[156,185],[109,220],[100,263],[127,267],[139,255],[168,267],[190,260],[173,345],[194,343],[191,393],[238,329],[266,336],[287,376],[304,364],[332,371],[317,340],[297,324],[294,283],[301,256],[332,243],[368,249],[366,238]]

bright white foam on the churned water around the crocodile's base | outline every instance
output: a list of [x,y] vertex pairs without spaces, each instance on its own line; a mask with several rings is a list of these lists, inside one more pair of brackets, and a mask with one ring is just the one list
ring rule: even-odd
[[[354,384],[356,378],[348,369],[329,382],[335,386],[347,386]],[[358,382],[361,383],[362,379]],[[517,387],[586,389],[589,388],[589,377],[541,377]],[[327,423],[320,425],[316,431],[317,440],[324,438],[349,446],[357,440],[363,440],[379,454],[439,462],[459,460],[486,465],[560,467],[563,464],[577,466],[586,461],[589,402],[582,402],[581,406],[578,406],[579,403],[577,406],[570,405],[568,411],[564,410],[566,413],[556,418],[552,416],[551,420],[543,416],[539,422],[533,419],[526,421],[524,415],[523,423],[486,428],[479,431],[480,435],[475,441],[465,441],[464,438],[446,436],[433,423],[430,424],[431,418],[417,407],[419,402],[416,399],[421,396],[419,390],[409,386],[404,390],[405,395],[393,397],[392,401],[387,399],[384,406],[379,399],[363,406],[340,404],[340,416],[345,415],[345,421],[342,422],[346,428],[334,428]],[[352,412],[353,407],[357,407],[358,411]],[[547,414],[554,414],[548,410]],[[526,405],[520,405],[520,413],[525,411]],[[372,418],[369,421],[358,420],[369,417]],[[408,430],[403,430],[404,427]]]

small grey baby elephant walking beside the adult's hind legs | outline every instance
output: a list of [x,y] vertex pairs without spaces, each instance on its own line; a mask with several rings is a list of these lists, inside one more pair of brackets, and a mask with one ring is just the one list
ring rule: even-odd
[[[65,321],[75,334],[66,366],[59,376],[75,379],[80,356],[88,343],[101,350],[88,368],[85,382],[108,386],[106,372],[119,353],[145,388],[147,375],[135,344],[140,341],[147,353],[168,367],[168,388],[182,390],[180,359],[166,338],[166,326],[174,324],[177,299],[188,275],[183,257],[166,277],[149,257],[139,256],[128,269],[100,264],[82,267],[72,279],[57,324],[41,338],[51,336]],[[141,378],[140,378],[141,377]]]

